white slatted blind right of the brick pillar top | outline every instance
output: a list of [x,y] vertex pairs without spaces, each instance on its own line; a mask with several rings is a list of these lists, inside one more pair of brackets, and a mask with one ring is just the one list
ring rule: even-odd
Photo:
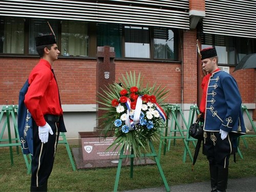
[[203,32],[256,38],[256,1],[205,0]]

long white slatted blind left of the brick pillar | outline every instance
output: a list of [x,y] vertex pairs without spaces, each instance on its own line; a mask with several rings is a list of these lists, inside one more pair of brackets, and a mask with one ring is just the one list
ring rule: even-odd
[[0,15],[189,29],[189,1],[0,1]]

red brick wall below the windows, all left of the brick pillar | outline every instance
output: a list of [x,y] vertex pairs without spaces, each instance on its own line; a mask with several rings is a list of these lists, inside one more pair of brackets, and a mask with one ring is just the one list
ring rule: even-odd
[[[2,57],[0,72],[0,104],[18,103],[19,90],[38,62],[38,58]],[[181,102],[180,63],[138,62],[116,60],[116,81],[126,71],[141,72],[144,85],[162,84],[170,90],[166,102]],[[58,81],[62,104],[96,103],[96,59],[64,59],[54,62],[53,69]]]

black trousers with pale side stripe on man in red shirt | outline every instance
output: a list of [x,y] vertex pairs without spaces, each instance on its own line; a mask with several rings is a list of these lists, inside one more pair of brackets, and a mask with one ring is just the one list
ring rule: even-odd
[[[57,143],[59,138],[58,123],[47,120],[53,135],[49,134],[48,142],[42,143],[38,136],[38,126],[33,120],[33,156],[31,161],[31,191],[46,191],[48,178],[51,175]],[[40,187],[42,189],[40,189]],[[37,190],[38,189],[38,190]]]

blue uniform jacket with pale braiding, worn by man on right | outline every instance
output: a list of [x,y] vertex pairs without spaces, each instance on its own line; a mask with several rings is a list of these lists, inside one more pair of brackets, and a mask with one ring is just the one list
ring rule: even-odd
[[245,134],[241,104],[236,80],[223,71],[212,73],[207,88],[204,130]]

